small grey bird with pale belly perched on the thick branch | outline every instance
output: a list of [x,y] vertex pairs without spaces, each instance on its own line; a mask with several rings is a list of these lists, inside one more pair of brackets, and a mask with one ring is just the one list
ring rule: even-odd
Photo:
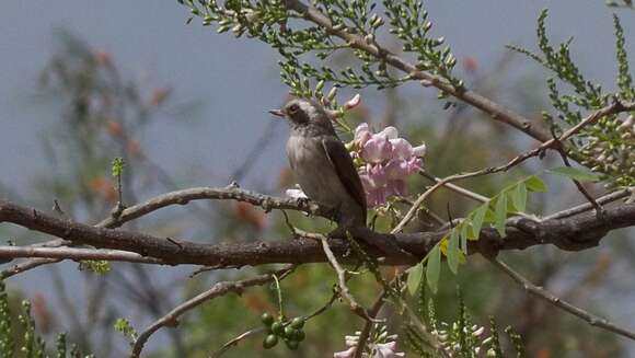
[[285,117],[291,127],[287,155],[307,196],[338,210],[339,228],[366,227],[366,195],[344,143],[337,138],[328,113],[314,101],[292,99],[269,113]]

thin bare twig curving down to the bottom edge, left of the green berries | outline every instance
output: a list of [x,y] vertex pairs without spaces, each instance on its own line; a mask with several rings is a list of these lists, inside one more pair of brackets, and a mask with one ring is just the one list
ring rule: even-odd
[[223,281],[215,284],[209,290],[199,293],[198,296],[181,303],[180,305],[175,307],[172,311],[170,311],[164,316],[157,320],[150,326],[148,326],[143,332],[139,334],[135,344],[132,345],[132,350],[130,353],[131,357],[139,357],[141,350],[143,349],[143,345],[148,342],[150,336],[159,331],[161,327],[164,326],[174,326],[177,324],[177,319],[183,313],[211,300],[219,296],[227,295],[229,292],[242,293],[245,287],[251,286],[259,286],[266,282],[269,282],[274,279],[274,275],[279,275],[280,278],[289,274],[296,266],[295,265],[286,265],[284,268],[276,270],[275,273],[269,273],[265,275],[261,275],[254,278],[244,279],[240,281]]

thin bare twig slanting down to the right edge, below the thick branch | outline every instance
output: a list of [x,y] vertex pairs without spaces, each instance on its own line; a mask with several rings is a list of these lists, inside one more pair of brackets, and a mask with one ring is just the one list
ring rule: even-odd
[[521,285],[522,288],[526,291],[528,291],[529,293],[555,305],[558,309],[562,309],[568,313],[572,313],[579,319],[582,319],[584,321],[586,321],[587,323],[589,323],[592,326],[604,328],[607,331],[613,332],[615,334],[619,334],[621,336],[624,336],[626,338],[635,340],[635,332],[619,327],[619,326],[612,324],[611,322],[607,321],[605,319],[599,317],[599,316],[597,316],[592,313],[589,313],[589,312],[587,312],[587,311],[585,311],[576,305],[573,305],[572,303],[569,303],[567,301],[564,301],[564,300],[557,298],[556,296],[546,291],[542,287],[538,287],[538,286],[533,285],[530,280],[524,278],[522,275],[520,275],[519,273],[517,273],[516,270],[513,270],[511,267],[507,266],[507,264],[505,264],[504,262],[501,262],[499,259],[494,258],[494,259],[490,259],[490,262],[492,262],[492,264],[494,264],[494,266],[501,269],[504,273],[509,275],[509,277],[511,277],[516,282]]

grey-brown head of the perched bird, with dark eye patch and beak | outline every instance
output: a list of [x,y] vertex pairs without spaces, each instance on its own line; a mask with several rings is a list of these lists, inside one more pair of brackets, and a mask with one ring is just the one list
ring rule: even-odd
[[272,109],[269,113],[289,120],[295,130],[311,129],[320,134],[334,134],[331,115],[314,101],[291,99],[280,109]]

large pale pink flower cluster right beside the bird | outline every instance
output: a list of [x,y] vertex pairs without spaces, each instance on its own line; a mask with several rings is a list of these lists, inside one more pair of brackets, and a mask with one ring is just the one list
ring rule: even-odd
[[426,146],[413,147],[399,138],[395,127],[373,134],[368,124],[355,129],[351,155],[358,164],[359,177],[369,207],[384,204],[391,196],[406,195],[406,177],[416,173],[426,153]]

